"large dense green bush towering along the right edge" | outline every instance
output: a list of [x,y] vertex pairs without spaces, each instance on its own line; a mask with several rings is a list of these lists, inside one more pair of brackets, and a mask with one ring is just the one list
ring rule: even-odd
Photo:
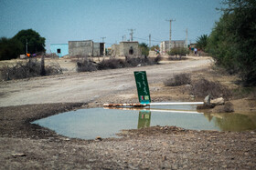
[[256,85],[256,1],[226,0],[223,15],[208,37],[216,64],[238,73],[244,85]]

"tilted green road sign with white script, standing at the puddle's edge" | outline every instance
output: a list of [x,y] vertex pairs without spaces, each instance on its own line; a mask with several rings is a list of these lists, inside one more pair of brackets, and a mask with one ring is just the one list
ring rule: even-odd
[[134,72],[138,97],[141,104],[149,104],[151,102],[148,83],[146,79],[146,73],[142,72]]

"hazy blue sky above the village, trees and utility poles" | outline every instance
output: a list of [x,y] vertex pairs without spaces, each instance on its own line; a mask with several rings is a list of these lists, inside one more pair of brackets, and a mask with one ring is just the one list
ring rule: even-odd
[[12,37],[22,29],[32,28],[50,44],[70,40],[101,42],[107,46],[130,38],[152,45],[169,39],[196,41],[209,34],[221,13],[216,10],[221,0],[0,0],[0,37]]

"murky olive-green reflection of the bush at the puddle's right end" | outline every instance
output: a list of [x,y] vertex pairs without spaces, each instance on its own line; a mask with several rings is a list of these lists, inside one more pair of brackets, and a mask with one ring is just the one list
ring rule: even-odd
[[255,115],[241,114],[204,114],[209,122],[213,121],[221,131],[245,131],[256,129]]

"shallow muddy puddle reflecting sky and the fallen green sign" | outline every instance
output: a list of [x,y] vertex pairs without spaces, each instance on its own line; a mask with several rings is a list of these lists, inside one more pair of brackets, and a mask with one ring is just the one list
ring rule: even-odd
[[176,125],[195,130],[253,130],[256,129],[256,116],[197,113],[196,106],[192,105],[157,106],[139,110],[91,108],[52,115],[32,124],[47,127],[59,135],[95,139],[96,136],[118,137],[115,134],[123,129],[155,125]]

